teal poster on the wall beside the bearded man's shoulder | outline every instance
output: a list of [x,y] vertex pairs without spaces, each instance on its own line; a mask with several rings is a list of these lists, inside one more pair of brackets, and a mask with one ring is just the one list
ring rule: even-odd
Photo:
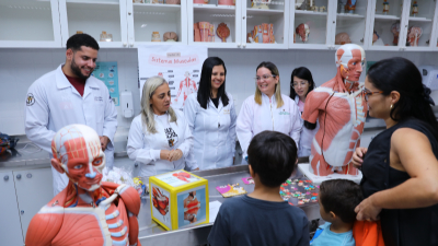
[[110,96],[114,105],[119,105],[118,95],[118,69],[117,61],[96,61],[96,67],[92,73],[93,77],[102,80],[108,87]]

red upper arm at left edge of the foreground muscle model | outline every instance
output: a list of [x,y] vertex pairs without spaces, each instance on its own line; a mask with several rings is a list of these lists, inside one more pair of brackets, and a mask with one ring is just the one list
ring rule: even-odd
[[62,224],[61,213],[37,213],[27,227],[26,246],[51,245]]

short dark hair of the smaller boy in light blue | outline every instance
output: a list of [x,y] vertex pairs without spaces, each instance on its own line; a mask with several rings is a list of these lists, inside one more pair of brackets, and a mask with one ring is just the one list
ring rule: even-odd
[[320,201],[324,211],[334,212],[344,223],[355,222],[355,208],[362,200],[360,186],[351,180],[331,179],[320,186]]

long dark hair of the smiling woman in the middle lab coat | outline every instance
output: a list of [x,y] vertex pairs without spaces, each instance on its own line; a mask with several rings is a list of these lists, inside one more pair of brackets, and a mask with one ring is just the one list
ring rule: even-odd
[[[208,102],[211,97],[211,72],[215,66],[222,66],[226,72],[227,79],[227,68],[223,60],[219,57],[209,57],[204,61],[203,71],[200,72],[200,80],[199,80],[199,90],[198,90],[198,103],[204,108],[207,109]],[[226,80],[223,80],[223,84],[220,85],[218,90],[218,98],[222,101],[223,106],[228,105],[228,96],[226,93]]]

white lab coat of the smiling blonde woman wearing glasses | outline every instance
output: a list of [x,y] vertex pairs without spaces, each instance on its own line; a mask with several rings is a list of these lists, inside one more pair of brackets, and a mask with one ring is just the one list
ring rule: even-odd
[[302,119],[297,104],[281,94],[285,104],[277,108],[275,94],[270,98],[262,93],[262,105],[254,101],[254,95],[247,97],[240,109],[235,131],[243,151],[242,163],[245,163],[247,148],[254,136],[264,131],[279,131],[290,136],[297,147],[300,142]]

